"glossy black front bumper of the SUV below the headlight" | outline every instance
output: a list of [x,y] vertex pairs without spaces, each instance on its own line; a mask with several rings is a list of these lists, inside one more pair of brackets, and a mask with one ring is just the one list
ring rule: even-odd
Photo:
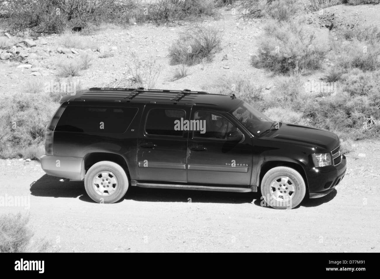
[[342,181],[346,173],[346,157],[337,166],[312,168],[306,171],[310,198],[319,198],[329,194]]

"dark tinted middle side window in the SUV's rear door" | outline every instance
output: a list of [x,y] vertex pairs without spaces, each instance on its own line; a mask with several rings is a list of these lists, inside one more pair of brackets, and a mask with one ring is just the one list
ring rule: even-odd
[[186,112],[179,109],[151,109],[145,124],[148,134],[182,136],[183,131],[174,130],[174,121],[185,119]]

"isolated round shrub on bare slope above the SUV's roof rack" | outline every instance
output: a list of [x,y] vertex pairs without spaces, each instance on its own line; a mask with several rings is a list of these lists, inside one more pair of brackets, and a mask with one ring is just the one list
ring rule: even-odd
[[194,65],[202,59],[211,61],[220,51],[222,34],[215,27],[197,25],[188,29],[169,48],[171,64]]

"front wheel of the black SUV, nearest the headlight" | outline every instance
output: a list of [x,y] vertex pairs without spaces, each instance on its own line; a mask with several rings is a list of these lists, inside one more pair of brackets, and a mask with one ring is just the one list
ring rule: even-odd
[[294,208],[306,194],[302,175],[290,167],[274,167],[265,173],[261,181],[261,205],[277,209]]

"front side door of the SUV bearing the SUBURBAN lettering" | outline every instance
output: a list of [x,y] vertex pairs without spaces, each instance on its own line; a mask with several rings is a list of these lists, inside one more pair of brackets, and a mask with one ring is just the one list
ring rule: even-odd
[[[249,186],[252,175],[252,139],[243,134],[228,115],[198,109],[192,120],[202,121],[202,131],[189,135],[188,183]],[[229,132],[241,134],[241,140],[227,139]]]

